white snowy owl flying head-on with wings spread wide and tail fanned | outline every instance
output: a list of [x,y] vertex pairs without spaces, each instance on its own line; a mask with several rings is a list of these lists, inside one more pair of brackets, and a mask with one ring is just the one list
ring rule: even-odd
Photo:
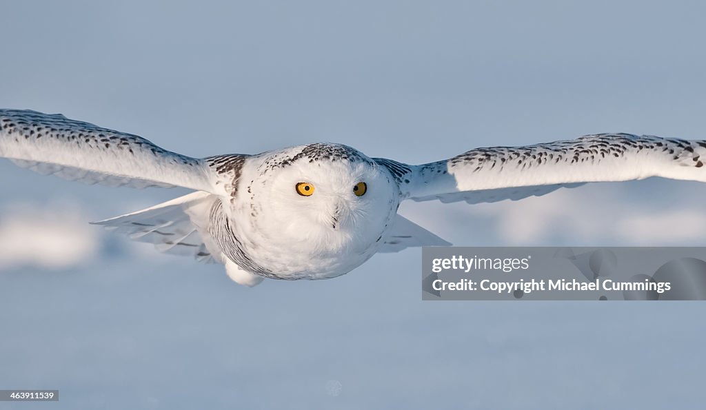
[[88,183],[194,190],[95,223],[160,251],[222,263],[246,286],[263,278],[328,279],[377,252],[450,245],[397,215],[402,200],[474,204],[594,181],[706,181],[706,142],[651,135],[477,148],[421,165],[333,143],[198,159],[61,114],[12,109],[0,110],[0,157]]

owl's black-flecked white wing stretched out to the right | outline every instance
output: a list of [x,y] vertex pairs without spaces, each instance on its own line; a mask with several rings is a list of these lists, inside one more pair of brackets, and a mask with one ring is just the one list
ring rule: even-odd
[[405,198],[445,203],[517,200],[587,182],[650,176],[706,182],[706,141],[623,133],[525,147],[477,148],[416,166],[376,161],[395,176]]

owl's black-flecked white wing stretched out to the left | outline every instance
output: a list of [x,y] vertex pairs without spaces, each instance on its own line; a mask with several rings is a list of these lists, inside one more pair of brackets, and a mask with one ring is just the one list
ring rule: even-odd
[[61,114],[0,109],[0,157],[41,174],[87,183],[216,191],[203,159]]

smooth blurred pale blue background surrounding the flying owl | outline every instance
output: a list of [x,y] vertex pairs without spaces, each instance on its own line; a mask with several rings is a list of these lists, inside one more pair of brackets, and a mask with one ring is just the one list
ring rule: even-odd
[[[706,136],[698,1],[1,10],[0,107],[196,157],[323,140],[419,163],[586,133]],[[0,187],[0,388],[61,390],[36,408],[702,407],[702,303],[422,302],[419,249],[246,289],[87,225],[186,191],[7,161]],[[648,180],[402,213],[456,245],[703,246],[705,198],[698,183]]]

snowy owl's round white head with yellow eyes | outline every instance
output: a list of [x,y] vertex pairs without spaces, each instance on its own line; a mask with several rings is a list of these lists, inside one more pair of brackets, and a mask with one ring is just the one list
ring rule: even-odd
[[390,172],[352,147],[311,144],[263,155],[249,187],[252,220],[270,243],[362,252],[399,205]]

